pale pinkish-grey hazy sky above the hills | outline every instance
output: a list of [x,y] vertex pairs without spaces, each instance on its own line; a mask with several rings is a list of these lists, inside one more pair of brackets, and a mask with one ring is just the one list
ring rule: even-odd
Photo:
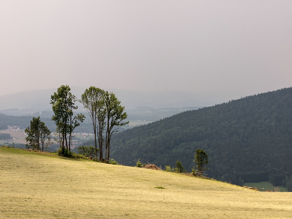
[[0,95],[292,86],[292,1],[0,0]]

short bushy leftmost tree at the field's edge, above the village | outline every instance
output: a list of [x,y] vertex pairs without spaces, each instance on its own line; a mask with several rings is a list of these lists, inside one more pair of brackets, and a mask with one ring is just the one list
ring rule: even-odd
[[25,138],[26,148],[46,151],[53,144],[51,141],[51,131],[46,127],[40,117],[33,117],[30,126],[25,129],[27,137]]

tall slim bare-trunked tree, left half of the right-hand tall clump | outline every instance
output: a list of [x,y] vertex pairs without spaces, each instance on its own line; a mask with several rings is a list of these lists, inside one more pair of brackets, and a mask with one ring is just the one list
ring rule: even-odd
[[95,139],[95,157],[97,159],[97,142],[96,136],[98,137],[99,145],[99,158],[102,159],[102,145],[103,145],[103,131],[105,129],[105,102],[104,102],[105,91],[91,86],[84,91],[81,95],[80,102],[86,109],[86,114],[89,115],[89,123],[93,125],[94,139]]

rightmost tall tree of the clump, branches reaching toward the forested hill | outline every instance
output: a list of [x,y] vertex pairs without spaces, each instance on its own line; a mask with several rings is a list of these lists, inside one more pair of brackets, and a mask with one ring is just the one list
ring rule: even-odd
[[109,161],[109,144],[112,134],[119,131],[119,126],[126,125],[129,121],[122,122],[127,118],[127,113],[124,112],[125,107],[121,106],[121,101],[113,92],[106,91],[104,101],[106,113],[105,160]]

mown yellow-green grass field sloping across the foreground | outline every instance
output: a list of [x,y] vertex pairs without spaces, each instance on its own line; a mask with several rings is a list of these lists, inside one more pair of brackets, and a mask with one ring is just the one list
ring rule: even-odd
[[291,217],[290,192],[0,148],[0,218]]

